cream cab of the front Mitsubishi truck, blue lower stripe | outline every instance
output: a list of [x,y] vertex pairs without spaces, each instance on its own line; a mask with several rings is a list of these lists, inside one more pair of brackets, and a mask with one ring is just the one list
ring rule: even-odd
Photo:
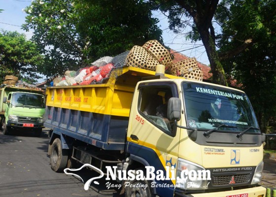
[[[157,111],[162,105],[167,107],[166,117]],[[151,180],[151,193],[263,197],[265,188],[257,183],[264,140],[242,91],[181,79],[137,85],[127,133],[130,163],[154,166],[164,174],[170,171],[169,179]],[[181,176],[183,170],[187,174]],[[190,177],[188,172],[200,173]]]

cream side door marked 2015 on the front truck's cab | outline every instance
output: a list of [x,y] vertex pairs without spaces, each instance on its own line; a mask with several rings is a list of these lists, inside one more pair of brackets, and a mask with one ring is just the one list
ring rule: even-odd
[[166,117],[167,101],[171,97],[178,98],[177,86],[172,81],[140,83],[134,95],[127,135],[127,151],[133,158],[153,166],[155,171],[164,171],[168,180],[157,180],[155,188],[162,190],[162,185],[171,185],[168,196],[173,194],[176,170],[172,169],[176,168],[180,136]]

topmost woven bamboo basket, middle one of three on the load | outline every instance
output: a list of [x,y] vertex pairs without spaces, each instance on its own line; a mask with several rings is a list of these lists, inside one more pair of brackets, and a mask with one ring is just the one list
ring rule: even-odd
[[153,57],[164,66],[168,66],[173,59],[171,57],[170,51],[166,49],[157,40],[149,40],[142,47],[144,47]]

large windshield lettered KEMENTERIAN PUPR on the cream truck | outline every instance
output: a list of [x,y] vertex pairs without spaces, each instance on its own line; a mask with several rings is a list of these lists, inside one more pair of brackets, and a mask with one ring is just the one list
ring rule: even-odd
[[[245,94],[198,83],[183,83],[187,125],[191,128],[217,131],[257,132],[257,119]],[[257,129],[256,129],[257,128]]]

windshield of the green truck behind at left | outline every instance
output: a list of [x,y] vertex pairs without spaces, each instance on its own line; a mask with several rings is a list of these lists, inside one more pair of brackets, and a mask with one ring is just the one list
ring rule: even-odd
[[45,102],[42,95],[30,93],[13,93],[11,104],[16,107],[44,108]]

